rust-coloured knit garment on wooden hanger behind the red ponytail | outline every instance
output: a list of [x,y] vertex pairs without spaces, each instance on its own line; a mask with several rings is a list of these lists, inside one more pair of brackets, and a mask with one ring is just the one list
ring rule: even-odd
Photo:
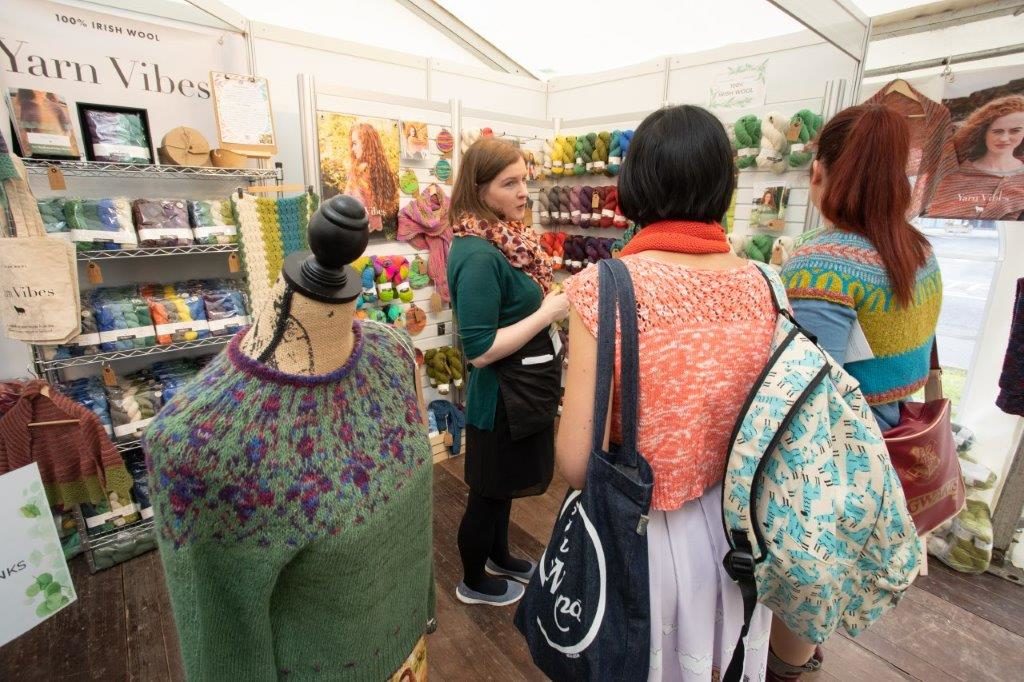
[[952,119],[949,110],[921,94],[913,86],[907,85],[907,88],[916,100],[893,89],[893,83],[887,84],[865,103],[885,104],[903,115],[910,128],[906,174],[913,183],[913,193],[907,217],[914,218],[924,213],[931,203],[939,180],[956,170]]

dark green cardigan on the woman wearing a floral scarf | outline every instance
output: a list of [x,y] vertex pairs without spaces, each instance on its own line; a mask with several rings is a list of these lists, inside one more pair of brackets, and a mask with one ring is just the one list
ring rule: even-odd
[[[447,275],[467,359],[485,353],[499,329],[534,314],[544,300],[541,288],[528,274],[512,267],[497,247],[478,237],[452,241]],[[486,431],[493,429],[498,394],[498,373],[494,368],[470,366],[467,423]]]

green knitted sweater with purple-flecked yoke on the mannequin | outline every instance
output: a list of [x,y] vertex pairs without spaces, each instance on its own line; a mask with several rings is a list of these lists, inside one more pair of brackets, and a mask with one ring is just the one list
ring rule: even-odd
[[291,375],[232,339],[144,437],[191,681],[378,680],[433,617],[431,458],[401,333]]

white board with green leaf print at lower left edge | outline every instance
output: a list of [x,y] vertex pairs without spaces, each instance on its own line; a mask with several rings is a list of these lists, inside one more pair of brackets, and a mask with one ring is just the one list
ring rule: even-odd
[[0,476],[0,646],[77,598],[39,467]]

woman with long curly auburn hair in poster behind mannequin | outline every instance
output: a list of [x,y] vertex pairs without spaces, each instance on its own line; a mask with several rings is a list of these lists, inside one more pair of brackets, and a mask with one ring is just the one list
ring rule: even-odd
[[367,209],[370,231],[393,237],[398,220],[398,182],[384,154],[380,133],[369,123],[357,123],[349,132],[348,180],[344,194],[355,197]]

